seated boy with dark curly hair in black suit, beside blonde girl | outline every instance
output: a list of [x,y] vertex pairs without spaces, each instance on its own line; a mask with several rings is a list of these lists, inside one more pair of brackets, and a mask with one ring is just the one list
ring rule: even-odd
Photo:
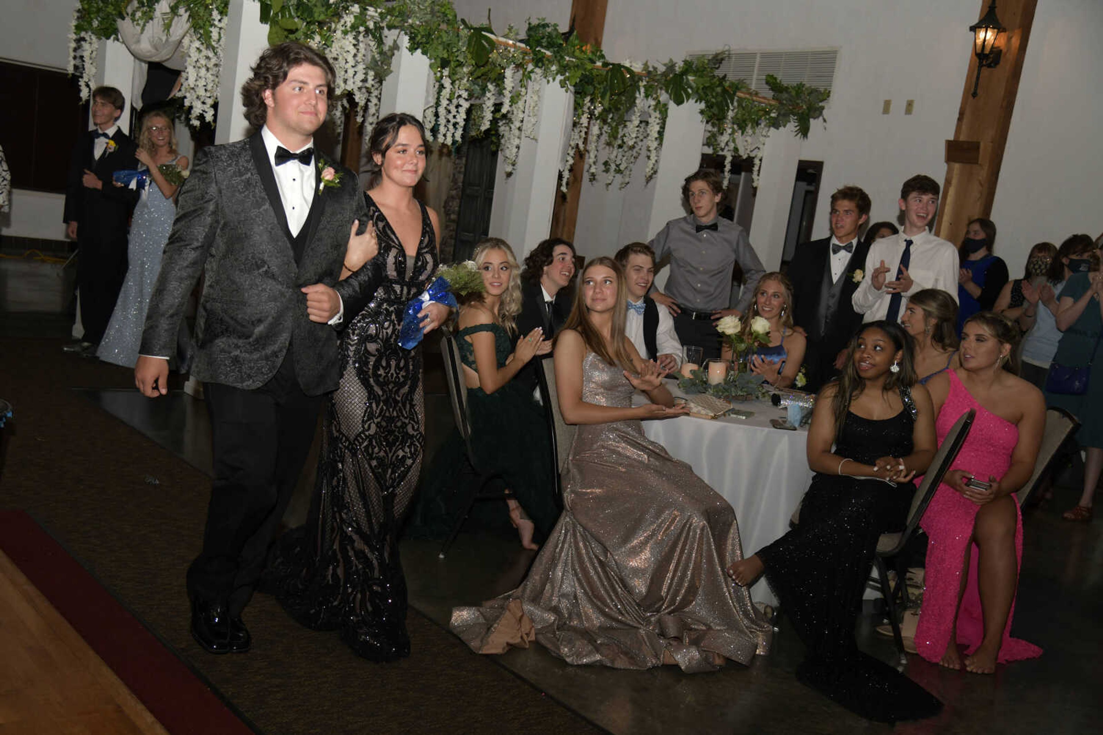
[[[521,313],[517,314],[517,335],[528,334],[536,327],[544,329],[544,339],[536,349],[537,358],[552,355],[552,338],[570,315],[575,278],[575,246],[563,238],[542,241],[525,256],[521,271]],[[538,363],[529,360],[514,380],[536,390]]]

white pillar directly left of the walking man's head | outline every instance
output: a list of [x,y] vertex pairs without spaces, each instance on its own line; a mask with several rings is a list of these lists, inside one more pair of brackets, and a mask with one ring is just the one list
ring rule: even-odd
[[249,134],[242,105],[242,85],[253,76],[250,69],[267,47],[268,26],[260,22],[260,3],[229,0],[214,142],[229,143]]

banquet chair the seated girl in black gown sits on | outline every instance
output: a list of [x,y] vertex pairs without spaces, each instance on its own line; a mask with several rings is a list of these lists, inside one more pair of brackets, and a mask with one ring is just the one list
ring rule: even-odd
[[[900,617],[908,609],[908,560],[906,554],[900,552],[904,550],[908,541],[911,540],[915,529],[919,527],[919,521],[922,520],[923,514],[927,511],[927,506],[930,505],[931,498],[934,497],[934,491],[939,489],[942,478],[950,471],[950,465],[957,457],[957,452],[961,451],[962,444],[965,443],[965,437],[968,436],[970,429],[973,426],[974,418],[976,418],[976,409],[970,409],[963,413],[954,425],[950,428],[945,439],[942,440],[942,444],[935,451],[931,464],[927,467],[923,480],[911,496],[911,509],[908,511],[908,523],[903,530],[893,533],[881,533],[881,538],[877,540],[877,554],[874,558],[874,565],[877,569],[876,581],[879,583],[881,596],[885,598],[885,605],[888,608],[887,616],[889,624],[892,626],[892,640],[896,641],[901,663],[908,660],[904,656],[903,637],[900,635]],[[891,580],[889,580],[889,561],[892,562],[892,566],[896,570],[896,584],[892,584]],[[870,583],[875,582],[872,577],[869,581]],[[897,596],[900,597],[902,605],[899,613],[896,605]]]

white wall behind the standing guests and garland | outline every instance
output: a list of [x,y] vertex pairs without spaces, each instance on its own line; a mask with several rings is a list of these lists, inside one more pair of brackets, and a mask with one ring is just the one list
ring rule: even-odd
[[[457,2],[461,17],[485,18],[483,2]],[[816,237],[827,233],[831,193],[844,184],[864,187],[872,220],[895,219],[899,187],[914,173],[942,183],[944,140],[953,138],[965,85],[978,0],[609,0],[603,47],[610,58],[661,62],[686,54],[733,50],[838,47],[835,86],[825,123],[813,123],[806,141],[778,131],[767,144],[751,241],[768,267],[780,262],[791,187],[800,159],[824,162],[816,206]],[[521,24],[547,17],[566,28],[569,0],[517,0],[493,17]],[[499,22],[495,20],[495,25]],[[1103,161],[1103,2],[1038,3],[996,190],[992,218],[998,251],[1013,273],[1034,242],[1077,231],[1103,231],[1097,162]],[[972,82],[972,80],[971,80]],[[984,84],[984,77],[981,78]],[[881,115],[885,99],[890,115]],[[915,100],[904,116],[904,102]],[[679,165],[664,161],[664,165]],[[688,173],[696,161],[681,169]],[[600,255],[636,239],[634,207],[641,194],[585,185],[576,241],[583,255]],[[646,197],[643,197],[646,198]],[[682,214],[681,203],[666,206]],[[652,217],[654,215],[652,214]]]

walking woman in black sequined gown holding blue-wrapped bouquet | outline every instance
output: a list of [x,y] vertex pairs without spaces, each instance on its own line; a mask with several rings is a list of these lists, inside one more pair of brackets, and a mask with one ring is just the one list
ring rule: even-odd
[[[421,468],[425,410],[421,348],[401,347],[398,331],[438,261],[437,215],[414,198],[424,140],[408,115],[388,115],[372,131],[376,170],[365,196],[379,250],[364,268],[378,285],[360,314],[344,315],[341,382],[325,414],[310,516],[279,540],[267,572],[299,623],[340,629],[375,661],[410,649],[397,532]],[[422,328],[440,326],[448,311],[428,304]]]

